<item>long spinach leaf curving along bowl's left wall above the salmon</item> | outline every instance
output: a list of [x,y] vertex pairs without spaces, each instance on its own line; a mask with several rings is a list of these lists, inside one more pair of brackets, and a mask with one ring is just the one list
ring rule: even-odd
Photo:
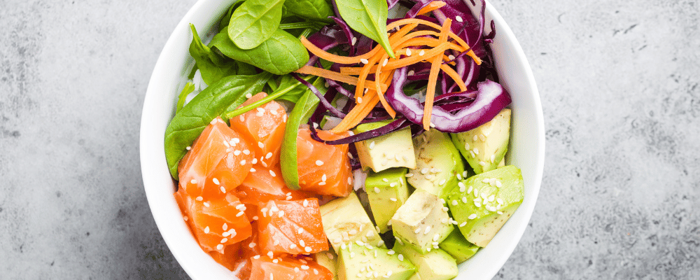
[[[177,165],[207,125],[221,114],[232,111],[246,101],[246,94],[256,94],[272,77],[270,73],[253,76],[226,76],[209,85],[186,104],[165,130],[165,158],[174,179],[178,179]],[[228,118],[227,118],[228,120]]]

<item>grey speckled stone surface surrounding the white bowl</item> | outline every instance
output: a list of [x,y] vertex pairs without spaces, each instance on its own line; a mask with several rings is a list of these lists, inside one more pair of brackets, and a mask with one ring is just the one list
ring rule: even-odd
[[[194,0],[0,0],[0,279],[187,279],[151,217],[139,121]],[[700,1],[493,0],[547,127],[496,279],[700,279]]]

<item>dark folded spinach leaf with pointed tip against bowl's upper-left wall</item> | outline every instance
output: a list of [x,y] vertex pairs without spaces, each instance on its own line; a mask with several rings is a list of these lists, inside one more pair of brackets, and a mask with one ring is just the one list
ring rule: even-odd
[[197,35],[195,25],[190,24],[192,29],[192,43],[190,43],[190,55],[195,58],[197,68],[200,69],[202,80],[207,85],[215,83],[217,80],[225,76],[235,75],[237,73],[237,65],[226,60],[225,57],[211,50],[202,43],[202,39]]

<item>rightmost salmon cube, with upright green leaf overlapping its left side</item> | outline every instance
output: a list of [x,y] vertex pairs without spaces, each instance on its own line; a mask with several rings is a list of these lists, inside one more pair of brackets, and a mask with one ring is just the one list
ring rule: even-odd
[[[318,137],[336,140],[349,134],[337,135],[317,130]],[[352,191],[352,167],[347,156],[348,145],[327,145],[311,139],[311,131],[300,128],[297,136],[297,169],[302,190],[318,195],[346,197]]]

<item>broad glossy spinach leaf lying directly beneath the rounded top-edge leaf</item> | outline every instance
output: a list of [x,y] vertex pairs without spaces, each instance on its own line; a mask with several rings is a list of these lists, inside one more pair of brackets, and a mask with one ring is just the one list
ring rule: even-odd
[[309,61],[309,52],[301,41],[282,29],[276,29],[272,37],[258,47],[243,50],[228,38],[228,27],[226,27],[211,39],[209,46],[221,51],[227,57],[276,75],[300,69]]

